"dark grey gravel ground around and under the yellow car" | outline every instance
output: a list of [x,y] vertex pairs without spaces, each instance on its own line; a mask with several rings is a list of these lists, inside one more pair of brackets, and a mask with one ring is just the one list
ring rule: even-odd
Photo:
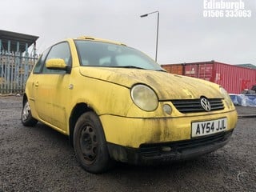
[[[256,118],[239,118],[230,142],[193,161],[168,166],[118,164],[106,174],[78,165],[68,138],[20,122],[21,97],[0,97],[0,192],[256,191]],[[237,106],[238,114],[256,108]]]

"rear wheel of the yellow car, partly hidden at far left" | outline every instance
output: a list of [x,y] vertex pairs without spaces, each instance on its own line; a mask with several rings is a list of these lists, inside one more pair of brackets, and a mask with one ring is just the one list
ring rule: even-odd
[[22,124],[24,126],[35,126],[38,120],[32,117],[30,103],[26,100],[22,107]]

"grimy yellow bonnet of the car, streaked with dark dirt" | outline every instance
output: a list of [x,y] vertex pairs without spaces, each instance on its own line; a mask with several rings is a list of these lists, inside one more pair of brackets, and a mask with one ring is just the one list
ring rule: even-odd
[[212,82],[163,71],[86,66],[80,67],[80,74],[128,88],[145,84],[158,94],[159,100],[222,98],[218,85]]

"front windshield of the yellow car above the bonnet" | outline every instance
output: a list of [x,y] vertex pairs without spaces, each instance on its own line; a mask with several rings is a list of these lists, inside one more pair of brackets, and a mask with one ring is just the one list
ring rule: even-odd
[[153,59],[128,46],[75,40],[81,66],[162,70]]

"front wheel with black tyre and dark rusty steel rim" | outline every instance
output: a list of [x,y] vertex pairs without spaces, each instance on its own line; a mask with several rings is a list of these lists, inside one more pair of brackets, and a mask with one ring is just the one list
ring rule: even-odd
[[78,162],[90,173],[100,174],[109,170],[112,160],[98,115],[82,114],[74,127],[74,152]]

